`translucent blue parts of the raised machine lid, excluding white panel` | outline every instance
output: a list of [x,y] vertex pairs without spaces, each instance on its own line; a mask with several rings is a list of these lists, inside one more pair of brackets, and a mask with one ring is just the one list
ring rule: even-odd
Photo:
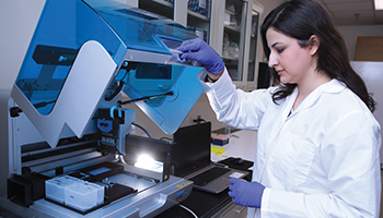
[[[195,37],[172,20],[119,2],[47,0],[14,89],[19,89],[42,117],[49,116],[81,47],[88,41],[97,41],[116,64],[111,83],[100,87],[105,88],[105,96],[121,81],[125,82],[123,92],[131,99],[172,90],[174,96],[138,102],[138,106],[165,133],[173,133],[202,93],[197,80],[201,68],[175,60],[177,53],[173,50],[183,40]],[[126,70],[127,65],[134,68]],[[25,107],[25,104],[19,105]]]

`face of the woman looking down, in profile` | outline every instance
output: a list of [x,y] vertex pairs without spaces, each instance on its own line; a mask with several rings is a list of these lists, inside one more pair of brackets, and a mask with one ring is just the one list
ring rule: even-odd
[[302,48],[295,38],[274,28],[266,32],[266,38],[270,48],[268,65],[275,68],[280,75],[280,82],[298,85],[304,83],[307,74],[316,68],[312,46]]

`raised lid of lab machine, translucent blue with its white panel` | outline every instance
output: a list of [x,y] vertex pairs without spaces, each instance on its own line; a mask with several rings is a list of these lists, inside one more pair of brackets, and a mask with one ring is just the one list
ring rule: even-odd
[[131,99],[172,92],[137,102],[171,134],[202,93],[201,68],[179,61],[174,50],[195,37],[172,20],[119,2],[47,0],[11,96],[55,147],[66,126],[82,137],[117,88]]

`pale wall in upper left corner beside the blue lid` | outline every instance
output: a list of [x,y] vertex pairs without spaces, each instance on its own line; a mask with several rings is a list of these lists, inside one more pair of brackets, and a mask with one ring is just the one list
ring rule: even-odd
[[14,83],[45,0],[0,0],[0,88]]

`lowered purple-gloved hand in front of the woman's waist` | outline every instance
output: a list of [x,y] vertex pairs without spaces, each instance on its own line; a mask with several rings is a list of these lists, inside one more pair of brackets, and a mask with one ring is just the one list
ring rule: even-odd
[[258,182],[247,182],[236,178],[231,178],[229,196],[233,203],[245,206],[260,208],[262,195],[265,186]]

